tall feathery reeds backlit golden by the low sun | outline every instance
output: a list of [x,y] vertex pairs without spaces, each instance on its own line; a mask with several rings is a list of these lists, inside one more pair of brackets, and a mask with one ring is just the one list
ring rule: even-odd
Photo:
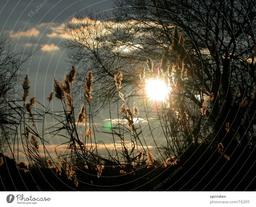
[[[76,68],[72,67],[62,81],[54,79],[54,92],[50,93],[46,100],[48,106],[36,102],[32,97],[28,101],[29,79],[25,77],[22,87],[22,100],[13,107],[20,117],[17,123],[17,133],[14,137],[10,151],[19,161],[20,155],[25,155],[28,169],[50,168],[59,177],[66,176],[66,179],[73,181],[79,186],[77,173],[83,174],[85,180],[96,183],[97,179],[104,177],[104,171],[112,174],[135,174],[140,166],[147,166],[147,169],[162,168],[176,165],[179,157],[192,145],[207,142],[203,139],[202,133],[205,130],[201,122],[206,117],[206,112],[211,106],[214,97],[203,97],[204,102],[198,110],[190,103],[190,98],[185,94],[187,72],[184,70],[185,51],[183,48],[183,37],[174,30],[173,44],[170,51],[178,55],[176,63],[169,63],[162,60],[162,65],[156,67],[153,61],[148,59],[147,68],[142,68],[139,74],[140,97],[137,103],[125,98],[125,91],[122,91],[123,74],[118,71],[113,80],[119,94],[116,112],[117,121],[113,119],[110,111],[110,129],[106,131],[112,137],[114,150],[110,150],[99,137],[96,137],[96,125],[91,113],[91,100],[93,92],[93,73],[89,72],[84,82],[84,97],[81,108],[74,104],[73,85],[76,81]],[[147,79],[156,78],[163,80],[169,88],[169,94],[163,101],[156,102],[148,99],[145,87]],[[62,111],[53,112],[50,110],[50,102],[56,99],[61,103]],[[133,100],[133,99],[132,99]],[[40,108],[35,108],[38,103]],[[210,103],[210,104],[208,104]],[[208,106],[209,105],[209,106]],[[79,111],[76,113],[76,111]],[[34,116],[36,112],[36,118]],[[193,113],[191,113],[193,112]],[[44,128],[46,116],[52,116],[54,126]],[[151,119],[154,117],[154,119]],[[143,120],[142,121],[140,120]],[[146,133],[146,122],[148,133]],[[138,123],[138,124],[137,124]],[[42,131],[37,126],[41,124]],[[79,126],[84,131],[79,131]],[[156,130],[160,127],[160,135],[164,137],[162,144],[157,141]],[[203,130],[204,129],[204,130]],[[145,135],[145,133],[147,135]],[[46,135],[48,137],[46,137]],[[58,152],[58,146],[49,150],[49,135],[53,139],[56,136],[63,137],[66,141],[60,146],[66,146],[65,150]],[[151,136],[150,145],[146,141]],[[129,139],[127,139],[129,137]],[[48,138],[48,140],[47,140]],[[117,143],[121,147],[117,147]],[[152,144],[153,143],[153,144]],[[98,152],[99,145],[105,146],[106,155]],[[152,148],[153,146],[153,148]],[[54,148],[54,152],[53,151]],[[24,163],[22,168],[24,169]],[[81,176],[80,176],[81,179]],[[83,179],[82,179],[83,182]]]

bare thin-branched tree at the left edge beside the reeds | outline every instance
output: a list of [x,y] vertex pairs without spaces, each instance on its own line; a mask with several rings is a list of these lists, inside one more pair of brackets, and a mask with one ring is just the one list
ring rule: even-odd
[[[16,101],[22,74],[21,65],[33,54],[33,47],[28,53],[14,53],[10,38],[0,39],[0,151],[5,152],[13,135],[16,133],[19,117],[15,113]],[[9,145],[10,147],[10,145]]]

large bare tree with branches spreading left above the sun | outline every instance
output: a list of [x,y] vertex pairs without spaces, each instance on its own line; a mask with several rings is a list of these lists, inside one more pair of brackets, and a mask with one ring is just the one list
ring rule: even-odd
[[[135,89],[140,82],[140,69],[146,67],[148,58],[163,71],[168,65],[182,64],[187,77],[179,95],[187,101],[184,113],[188,113],[191,124],[196,126],[192,140],[197,142],[197,137],[203,136],[204,141],[211,143],[214,139],[233,152],[237,146],[255,145],[253,3],[116,1],[111,18],[89,14],[90,18],[78,18],[67,24],[70,38],[65,43],[71,48],[69,56],[73,63],[93,70],[98,86],[95,95],[102,107],[109,95],[113,102],[118,97],[112,92],[117,71],[124,74],[123,90],[125,83]],[[171,47],[173,42],[180,41],[178,33],[173,33],[174,26],[184,37],[181,40],[184,54]],[[248,106],[253,109],[250,113],[246,112]],[[202,109],[205,116],[200,118],[202,114],[198,112]],[[202,131],[203,127],[207,130]]]

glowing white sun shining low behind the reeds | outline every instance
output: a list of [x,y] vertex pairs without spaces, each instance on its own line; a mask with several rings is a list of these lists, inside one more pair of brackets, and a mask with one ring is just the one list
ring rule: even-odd
[[146,93],[148,98],[164,101],[168,95],[168,86],[163,80],[150,78],[146,81]]

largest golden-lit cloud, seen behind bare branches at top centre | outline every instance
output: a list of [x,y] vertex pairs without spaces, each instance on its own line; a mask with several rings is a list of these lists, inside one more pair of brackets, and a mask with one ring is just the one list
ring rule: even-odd
[[[72,16],[70,16],[72,17]],[[66,24],[69,25],[66,27]],[[99,41],[97,38],[98,35],[106,37],[111,35],[113,31],[118,30],[120,27],[124,27],[126,24],[131,24],[129,22],[116,23],[113,21],[100,21],[93,20],[88,17],[84,18],[68,18],[66,23],[51,24],[49,29],[51,32],[47,33],[46,36],[49,39],[59,38],[59,39],[68,39],[70,41],[75,41],[87,47],[102,47],[103,45],[113,47],[113,42],[111,41]],[[103,38],[104,39],[104,38]],[[120,47],[113,48],[113,52],[131,52],[141,47],[140,44],[132,45],[132,42],[127,45],[122,45]]]

